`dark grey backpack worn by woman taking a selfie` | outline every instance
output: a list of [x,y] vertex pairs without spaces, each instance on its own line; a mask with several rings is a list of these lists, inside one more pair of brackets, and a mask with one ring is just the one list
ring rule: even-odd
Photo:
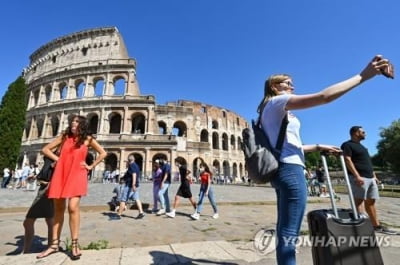
[[245,167],[249,179],[258,184],[270,182],[276,175],[279,166],[279,158],[286,135],[288,125],[287,114],[282,120],[279,136],[275,148],[272,147],[268,136],[264,133],[261,125],[260,111],[257,122],[251,121],[251,127],[242,131],[242,149],[245,158]]

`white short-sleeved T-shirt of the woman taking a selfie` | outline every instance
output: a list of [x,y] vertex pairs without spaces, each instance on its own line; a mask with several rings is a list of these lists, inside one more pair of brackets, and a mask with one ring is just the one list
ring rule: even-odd
[[273,147],[276,146],[282,120],[288,114],[288,126],[283,141],[280,161],[288,164],[304,166],[303,144],[300,138],[300,121],[286,110],[286,104],[291,94],[281,94],[272,97],[261,114],[261,124]]

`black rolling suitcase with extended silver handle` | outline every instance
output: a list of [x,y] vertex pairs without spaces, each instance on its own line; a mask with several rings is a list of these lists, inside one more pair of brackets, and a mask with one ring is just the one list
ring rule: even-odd
[[354,203],[344,157],[340,155],[349,191],[351,209],[338,209],[329,177],[325,154],[321,153],[332,209],[307,214],[314,265],[381,265],[379,239],[367,216],[359,215]]

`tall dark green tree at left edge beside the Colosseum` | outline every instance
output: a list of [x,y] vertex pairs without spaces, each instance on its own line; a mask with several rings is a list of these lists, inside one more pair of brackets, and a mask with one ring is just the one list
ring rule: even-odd
[[20,76],[9,87],[0,104],[0,169],[14,168],[25,125],[26,84]]

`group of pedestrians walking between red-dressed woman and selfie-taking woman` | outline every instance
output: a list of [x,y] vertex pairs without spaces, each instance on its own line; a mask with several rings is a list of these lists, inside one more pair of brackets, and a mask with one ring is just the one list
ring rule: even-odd
[[[136,175],[139,173],[138,167],[134,162],[134,156],[130,156],[128,159],[129,168],[136,168],[133,178],[131,177],[131,171],[127,171],[124,177],[121,178],[120,184],[113,189],[115,196],[111,198],[110,205],[118,213],[115,219],[120,220],[123,211],[128,208],[126,204],[130,201],[136,203],[139,210],[139,215],[136,219],[142,219],[145,214],[143,212],[142,203],[139,198],[139,178]],[[174,202],[171,208],[168,190],[171,185],[171,165],[165,159],[156,159],[153,162],[153,206],[150,213],[156,214],[157,216],[166,215],[170,218],[175,218],[176,209],[179,205],[180,198],[186,198],[189,200],[193,206],[194,212],[190,217],[194,220],[199,220],[200,212],[203,205],[204,197],[207,196],[210,200],[211,206],[213,208],[214,214],[213,218],[217,219],[219,217],[217,204],[214,198],[214,193],[212,189],[212,172],[210,171],[208,165],[203,161],[200,164],[200,191],[198,196],[198,202],[196,203],[194,196],[191,191],[191,184],[193,177],[191,176],[190,170],[187,169],[183,160],[176,159],[175,165],[179,170],[180,185],[178,191],[174,197]],[[132,179],[134,180],[132,185]]]

